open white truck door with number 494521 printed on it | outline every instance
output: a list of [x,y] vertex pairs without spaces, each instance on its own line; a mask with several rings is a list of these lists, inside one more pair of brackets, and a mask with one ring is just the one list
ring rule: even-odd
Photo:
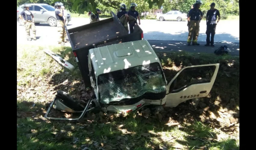
[[167,85],[165,107],[206,97],[214,84],[220,64],[195,65],[182,68]]

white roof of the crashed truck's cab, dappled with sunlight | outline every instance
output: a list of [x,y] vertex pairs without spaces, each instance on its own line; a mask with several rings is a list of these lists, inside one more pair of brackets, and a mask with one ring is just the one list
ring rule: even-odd
[[147,40],[132,41],[89,50],[95,76],[116,70],[159,62]]

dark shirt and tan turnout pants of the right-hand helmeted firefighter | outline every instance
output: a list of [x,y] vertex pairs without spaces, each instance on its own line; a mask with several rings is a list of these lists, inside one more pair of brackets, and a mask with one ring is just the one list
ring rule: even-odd
[[189,14],[188,16],[190,16],[190,21],[189,21],[189,35],[188,35],[188,44],[191,43],[192,44],[197,44],[197,38],[199,35],[199,22],[200,22],[200,18],[201,16],[203,16],[203,13],[201,10],[193,8],[189,10]]

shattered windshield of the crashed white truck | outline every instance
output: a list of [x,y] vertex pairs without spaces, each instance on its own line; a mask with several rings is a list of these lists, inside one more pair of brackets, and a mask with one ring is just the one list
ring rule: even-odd
[[[101,74],[98,76],[98,89],[100,101],[109,104],[127,98],[138,98],[146,93],[163,93],[166,85],[161,66],[155,62]],[[148,97],[150,99],[152,96]]]

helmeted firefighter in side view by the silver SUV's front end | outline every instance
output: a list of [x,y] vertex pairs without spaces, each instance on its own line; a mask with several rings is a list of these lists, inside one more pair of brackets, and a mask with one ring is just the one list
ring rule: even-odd
[[62,42],[66,43],[65,40],[65,28],[64,28],[64,18],[63,18],[63,10],[61,9],[61,6],[63,6],[63,3],[61,2],[55,2],[55,16],[57,19],[57,27],[58,27],[58,33],[59,33],[59,40],[58,43],[61,44]]

